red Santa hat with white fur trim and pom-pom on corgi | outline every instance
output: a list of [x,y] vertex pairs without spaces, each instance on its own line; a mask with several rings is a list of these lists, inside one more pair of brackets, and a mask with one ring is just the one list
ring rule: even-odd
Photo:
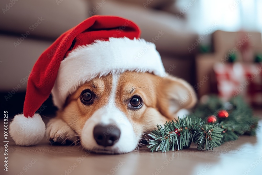
[[[52,92],[62,108],[68,95],[97,76],[124,71],[165,75],[155,44],[138,39],[130,20],[92,16],[63,33],[36,61],[28,79],[24,113],[14,116],[10,135],[17,145],[35,145],[45,135],[38,108]],[[21,129],[22,128],[22,129]]]

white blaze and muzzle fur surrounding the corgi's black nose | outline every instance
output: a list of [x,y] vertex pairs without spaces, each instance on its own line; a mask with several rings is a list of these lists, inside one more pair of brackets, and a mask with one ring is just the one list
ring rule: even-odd
[[[82,135],[81,143],[83,147],[96,152],[130,152],[137,147],[139,137],[135,135],[131,123],[127,119],[127,116],[117,108],[114,103],[117,96],[117,82],[118,75],[112,76],[112,90],[108,98],[108,103],[102,108],[98,109],[85,123]],[[108,125],[112,124],[114,128],[118,127],[121,131],[120,139],[116,144],[108,148],[99,146],[93,137],[93,130],[97,124]],[[114,128],[108,128],[106,134]],[[90,134],[91,133],[91,134]]]

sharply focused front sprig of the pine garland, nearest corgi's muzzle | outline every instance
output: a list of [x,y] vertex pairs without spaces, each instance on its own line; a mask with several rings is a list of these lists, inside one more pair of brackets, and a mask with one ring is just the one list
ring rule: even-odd
[[157,130],[152,131],[149,136],[148,147],[154,151],[174,151],[188,148],[192,142],[197,145],[198,150],[213,149],[221,145],[223,129],[204,121],[188,116],[179,118],[175,121],[166,122],[166,124],[157,125]]

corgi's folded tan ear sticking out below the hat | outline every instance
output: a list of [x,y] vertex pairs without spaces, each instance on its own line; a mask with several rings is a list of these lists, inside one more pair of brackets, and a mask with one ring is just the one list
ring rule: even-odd
[[192,108],[197,101],[193,87],[183,79],[170,75],[159,79],[157,91],[157,108],[164,116],[177,118],[180,109]]

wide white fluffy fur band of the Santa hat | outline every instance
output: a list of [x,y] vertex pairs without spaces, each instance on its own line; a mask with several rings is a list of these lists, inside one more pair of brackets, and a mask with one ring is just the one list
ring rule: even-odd
[[62,108],[69,94],[97,76],[124,71],[150,72],[161,77],[166,75],[155,44],[144,39],[96,40],[74,49],[61,62],[52,89],[54,105]]

